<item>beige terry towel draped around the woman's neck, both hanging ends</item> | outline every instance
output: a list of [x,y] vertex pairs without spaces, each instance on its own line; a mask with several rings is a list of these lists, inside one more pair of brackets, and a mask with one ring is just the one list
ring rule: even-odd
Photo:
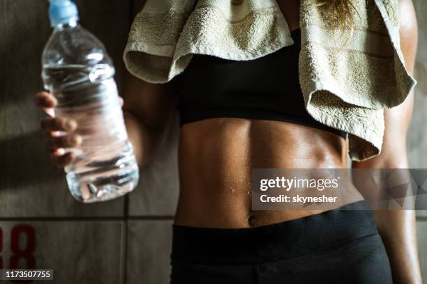
[[[312,3],[301,1],[306,109],[349,133],[353,160],[368,159],[381,150],[383,109],[403,102],[416,84],[400,51],[398,0],[353,0],[354,31],[335,31],[327,6]],[[274,0],[147,0],[123,58],[135,76],[163,83],[183,72],[192,54],[252,60],[293,44]]]

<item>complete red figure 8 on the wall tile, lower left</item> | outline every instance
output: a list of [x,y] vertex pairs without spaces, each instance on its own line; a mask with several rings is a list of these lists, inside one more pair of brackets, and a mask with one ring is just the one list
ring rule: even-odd
[[[20,235],[26,235],[26,244],[24,248],[20,248]],[[34,228],[28,225],[17,225],[13,227],[10,232],[10,250],[13,255],[10,258],[10,269],[17,269],[18,261],[23,258],[27,262],[27,269],[34,269],[36,267],[36,258],[33,252],[36,248],[36,232]]]

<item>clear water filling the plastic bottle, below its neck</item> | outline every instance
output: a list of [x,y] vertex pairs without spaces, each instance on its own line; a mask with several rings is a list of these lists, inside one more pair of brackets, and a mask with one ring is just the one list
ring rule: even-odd
[[45,88],[58,100],[55,115],[75,120],[82,136],[78,148],[65,149],[76,159],[64,170],[71,194],[85,203],[127,194],[139,178],[113,74],[105,64],[43,68]]

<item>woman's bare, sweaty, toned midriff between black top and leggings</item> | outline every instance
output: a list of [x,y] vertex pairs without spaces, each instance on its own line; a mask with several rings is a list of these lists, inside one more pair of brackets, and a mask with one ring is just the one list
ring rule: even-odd
[[[175,223],[250,228],[320,213],[324,210],[252,210],[252,169],[345,168],[346,150],[337,134],[292,123],[212,118],[183,125]],[[343,203],[361,199],[351,189]]]

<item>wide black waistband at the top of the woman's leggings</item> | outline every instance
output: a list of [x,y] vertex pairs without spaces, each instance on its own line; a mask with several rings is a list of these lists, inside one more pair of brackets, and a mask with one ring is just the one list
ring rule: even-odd
[[172,262],[248,265],[336,248],[377,233],[366,200],[257,228],[173,226]]

